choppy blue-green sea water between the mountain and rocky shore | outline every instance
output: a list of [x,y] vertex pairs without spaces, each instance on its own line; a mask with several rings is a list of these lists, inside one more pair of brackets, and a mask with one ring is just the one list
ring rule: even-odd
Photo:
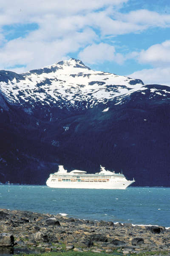
[[0,185],[0,208],[170,227],[170,188],[53,189]]

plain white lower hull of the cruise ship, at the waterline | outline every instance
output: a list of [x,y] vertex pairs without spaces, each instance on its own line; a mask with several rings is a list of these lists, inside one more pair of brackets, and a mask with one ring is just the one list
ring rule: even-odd
[[130,186],[134,181],[126,180],[125,182],[111,182],[111,183],[94,183],[94,182],[50,182],[47,180],[47,186],[51,188],[65,188],[65,189],[126,189],[127,186]]

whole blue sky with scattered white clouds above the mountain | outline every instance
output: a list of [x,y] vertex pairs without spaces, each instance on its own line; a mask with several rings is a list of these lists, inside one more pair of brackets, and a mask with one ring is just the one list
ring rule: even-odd
[[2,0],[0,69],[81,59],[94,70],[170,86],[169,0]]

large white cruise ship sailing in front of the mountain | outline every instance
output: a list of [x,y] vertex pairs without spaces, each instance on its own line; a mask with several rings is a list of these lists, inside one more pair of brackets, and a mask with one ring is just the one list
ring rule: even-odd
[[87,174],[85,171],[73,170],[67,172],[59,166],[58,172],[51,173],[46,184],[51,188],[71,189],[126,189],[135,182],[127,180],[121,173],[110,172],[100,166],[100,172]]

